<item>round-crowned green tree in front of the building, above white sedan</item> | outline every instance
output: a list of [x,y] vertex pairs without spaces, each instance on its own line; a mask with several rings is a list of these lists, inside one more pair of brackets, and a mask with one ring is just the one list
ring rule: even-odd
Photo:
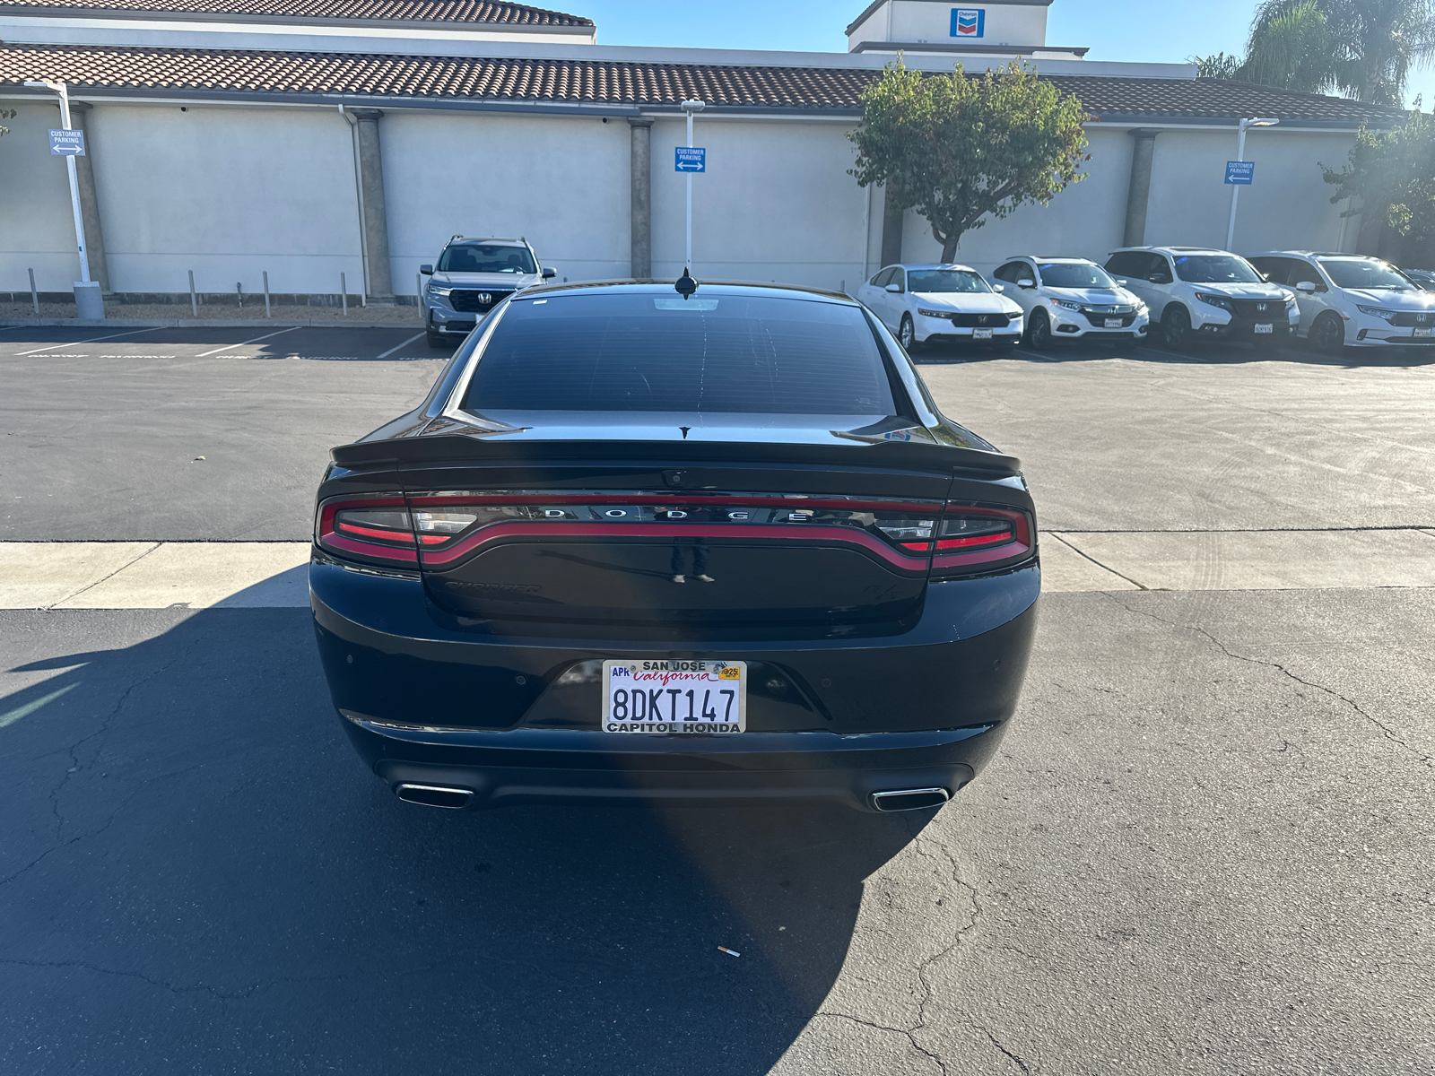
[[1019,205],[1050,204],[1091,159],[1076,98],[1020,63],[969,77],[908,70],[898,57],[862,90],[851,175],[884,184],[888,205],[916,208],[951,261],[963,234]]

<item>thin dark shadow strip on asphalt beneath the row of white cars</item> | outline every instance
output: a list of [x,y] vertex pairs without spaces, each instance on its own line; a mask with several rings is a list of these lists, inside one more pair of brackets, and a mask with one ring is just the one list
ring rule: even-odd
[[1126,359],[1137,363],[1188,364],[1188,366],[1237,366],[1241,363],[1299,363],[1303,366],[1336,366],[1356,369],[1366,366],[1413,367],[1435,364],[1432,347],[1347,347],[1342,354],[1316,351],[1299,341],[1284,346],[1248,343],[1197,341],[1191,347],[1174,351],[1159,343],[1139,347],[1111,347],[1109,344],[1078,341],[1053,341],[1036,350],[1026,344],[1010,351],[999,351],[976,344],[924,344],[911,353],[918,366],[960,366],[967,363],[990,363],[997,360],[1039,363],[1089,363],[1104,359]]

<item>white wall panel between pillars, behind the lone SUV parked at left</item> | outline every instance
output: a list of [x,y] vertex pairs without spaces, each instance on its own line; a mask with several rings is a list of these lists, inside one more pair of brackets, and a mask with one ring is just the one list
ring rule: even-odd
[[558,280],[629,275],[629,125],[386,109],[379,125],[393,287],[455,232],[527,237]]

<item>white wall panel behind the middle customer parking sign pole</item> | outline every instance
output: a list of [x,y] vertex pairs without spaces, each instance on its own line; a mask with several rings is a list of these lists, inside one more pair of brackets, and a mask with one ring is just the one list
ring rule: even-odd
[[[707,172],[693,176],[693,267],[702,280],[855,288],[867,258],[867,191],[847,175],[857,148],[834,122],[697,119]],[[686,176],[673,149],[682,121],[653,125],[653,273],[683,271]],[[880,199],[874,212],[881,212]],[[878,217],[880,224],[880,217]]]

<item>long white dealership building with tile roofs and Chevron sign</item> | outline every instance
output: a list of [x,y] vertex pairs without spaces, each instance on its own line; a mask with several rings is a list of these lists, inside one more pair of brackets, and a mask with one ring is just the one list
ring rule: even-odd
[[[860,0],[858,0],[860,1]],[[702,100],[699,278],[855,290],[940,255],[926,221],[848,174],[860,95],[898,53],[927,72],[1022,59],[1088,113],[1088,178],[963,237],[959,260],[1104,260],[1131,244],[1225,244],[1241,118],[1254,182],[1234,247],[1369,250],[1330,202],[1362,126],[1403,113],[1343,98],[1105,63],[1046,40],[1053,0],[875,0],[845,53],[629,47],[593,22],[488,0],[0,0],[0,298],[79,280],[63,82],[89,268],[121,297],[260,291],[412,298],[451,235],[525,237],[561,278],[676,277],[683,100]],[[753,27],[753,46],[762,30]]]

